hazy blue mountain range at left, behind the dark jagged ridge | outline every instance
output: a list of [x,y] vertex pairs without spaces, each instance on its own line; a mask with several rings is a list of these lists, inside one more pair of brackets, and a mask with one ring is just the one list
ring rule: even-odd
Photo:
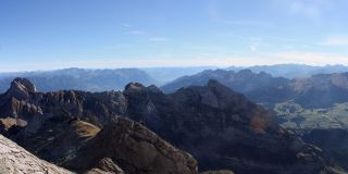
[[36,84],[40,91],[87,90],[105,91],[122,90],[130,82],[146,85],[156,80],[138,69],[85,70],[65,69],[47,72],[5,73],[0,77],[0,92],[5,91],[15,77],[25,77]]

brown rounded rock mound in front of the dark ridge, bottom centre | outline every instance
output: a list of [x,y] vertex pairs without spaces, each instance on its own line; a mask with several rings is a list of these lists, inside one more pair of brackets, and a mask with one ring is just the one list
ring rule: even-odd
[[129,174],[198,173],[197,162],[188,153],[175,149],[142,125],[122,117],[104,127],[63,165],[76,171],[99,165],[103,171],[114,172],[117,170],[113,161]]

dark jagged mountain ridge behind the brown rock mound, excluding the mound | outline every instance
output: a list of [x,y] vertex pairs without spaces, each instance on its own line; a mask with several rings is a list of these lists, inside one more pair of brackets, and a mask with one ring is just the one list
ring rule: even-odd
[[[98,137],[98,128],[123,116],[189,152],[197,159],[200,171],[228,169],[245,174],[331,171],[320,150],[279,127],[261,105],[216,80],[172,95],[163,94],[156,86],[132,83],[124,91],[36,91],[28,99],[15,101],[13,98],[0,96],[1,101],[11,101],[0,104],[4,111],[2,117],[21,119],[27,125],[14,124],[2,132],[38,157],[58,164],[77,154],[75,147],[86,146],[84,141]],[[37,110],[26,112],[17,102],[35,105]],[[72,127],[76,122],[98,128],[87,126],[90,130],[82,136],[76,126]],[[76,134],[66,135],[66,129]],[[113,157],[105,158],[125,166]]]

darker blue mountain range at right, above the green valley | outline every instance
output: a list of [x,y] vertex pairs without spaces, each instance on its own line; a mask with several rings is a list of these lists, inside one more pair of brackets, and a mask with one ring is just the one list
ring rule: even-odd
[[303,108],[328,108],[348,102],[348,73],[318,74],[304,78],[273,77],[250,70],[239,72],[215,70],[184,76],[162,86],[165,92],[187,86],[202,86],[216,79],[229,88],[245,94],[252,101],[274,107],[275,103],[294,101]]

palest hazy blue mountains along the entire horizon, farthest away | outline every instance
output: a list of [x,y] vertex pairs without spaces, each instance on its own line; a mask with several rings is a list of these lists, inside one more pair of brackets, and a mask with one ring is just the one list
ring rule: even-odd
[[[268,73],[274,77],[310,77],[315,74],[331,74],[348,72],[344,65],[310,66],[302,64],[278,64],[262,66],[231,66],[222,70],[251,70],[253,73]],[[206,70],[217,70],[215,66],[188,67],[141,67],[115,70],[64,69],[57,71],[37,71],[18,73],[0,73],[0,92],[5,91],[15,77],[26,77],[37,84],[41,91],[63,89],[104,91],[121,90],[124,85],[132,82],[145,85],[156,84],[162,86],[183,76],[195,75]]]

